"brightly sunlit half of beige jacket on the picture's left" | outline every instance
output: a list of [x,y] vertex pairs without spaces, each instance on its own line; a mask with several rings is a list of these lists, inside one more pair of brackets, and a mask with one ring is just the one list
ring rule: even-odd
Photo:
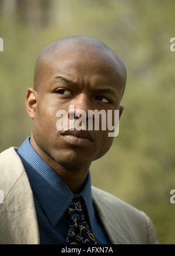
[[16,151],[11,147],[0,154],[0,244],[38,244],[33,192]]

